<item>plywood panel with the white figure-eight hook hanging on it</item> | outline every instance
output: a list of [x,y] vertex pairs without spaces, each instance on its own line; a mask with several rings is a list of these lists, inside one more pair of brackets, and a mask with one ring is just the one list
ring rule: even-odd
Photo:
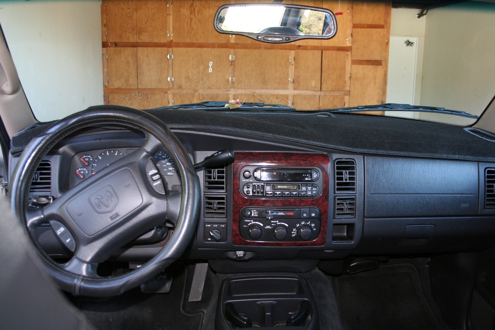
[[174,88],[229,88],[229,49],[174,48],[173,54]]

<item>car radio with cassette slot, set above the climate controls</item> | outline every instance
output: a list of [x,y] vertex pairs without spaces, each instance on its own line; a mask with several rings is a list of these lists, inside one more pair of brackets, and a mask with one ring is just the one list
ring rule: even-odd
[[317,167],[245,166],[239,175],[246,197],[314,198],[320,195],[323,184]]

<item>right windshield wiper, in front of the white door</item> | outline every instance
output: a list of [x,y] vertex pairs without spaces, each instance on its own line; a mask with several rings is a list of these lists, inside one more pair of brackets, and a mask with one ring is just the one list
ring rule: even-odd
[[478,119],[477,115],[473,115],[464,111],[448,110],[446,108],[439,108],[436,106],[422,106],[422,105],[410,105],[410,104],[399,104],[399,103],[359,105],[359,106],[350,106],[347,108],[324,109],[320,111],[326,111],[326,112],[367,112],[367,111],[415,111],[416,112],[417,111],[417,112],[446,113],[455,116]]

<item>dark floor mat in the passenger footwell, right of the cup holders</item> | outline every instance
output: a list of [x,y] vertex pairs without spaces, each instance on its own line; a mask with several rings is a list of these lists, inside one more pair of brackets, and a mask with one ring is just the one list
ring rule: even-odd
[[428,305],[412,265],[333,277],[342,324],[346,330],[444,329]]

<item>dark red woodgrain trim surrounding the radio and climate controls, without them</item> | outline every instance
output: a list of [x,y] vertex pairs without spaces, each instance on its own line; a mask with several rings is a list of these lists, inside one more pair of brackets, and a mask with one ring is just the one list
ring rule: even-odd
[[[232,192],[232,242],[234,245],[247,246],[322,246],[327,238],[328,202],[329,202],[329,175],[330,159],[324,153],[298,153],[298,152],[236,152],[233,174]],[[252,198],[245,197],[240,191],[239,173],[244,166],[314,166],[323,172],[322,193],[316,198]],[[268,242],[248,241],[239,233],[239,215],[245,206],[315,206],[321,211],[320,235],[312,241],[298,242]]]

